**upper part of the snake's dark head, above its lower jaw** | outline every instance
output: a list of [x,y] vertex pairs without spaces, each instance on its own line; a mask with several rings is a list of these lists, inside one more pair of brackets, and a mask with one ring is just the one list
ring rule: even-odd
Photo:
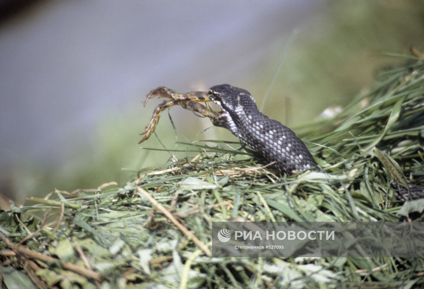
[[244,109],[257,109],[253,96],[244,89],[229,84],[215,85],[209,88],[210,99],[230,115]]

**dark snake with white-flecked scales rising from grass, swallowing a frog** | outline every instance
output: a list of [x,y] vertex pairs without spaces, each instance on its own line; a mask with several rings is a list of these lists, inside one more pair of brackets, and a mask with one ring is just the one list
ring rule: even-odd
[[247,90],[220,84],[211,87],[209,94],[210,99],[222,109],[213,124],[229,129],[269,162],[275,162],[280,172],[291,175],[293,171],[317,166],[298,136],[260,112]]

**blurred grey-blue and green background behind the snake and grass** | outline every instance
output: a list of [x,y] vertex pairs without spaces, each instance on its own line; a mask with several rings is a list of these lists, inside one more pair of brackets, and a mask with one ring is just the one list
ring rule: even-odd
[[296,131],[403,61],[386,53],[422,51],[423,36],[423,0],[0,1],[0,205],[125,185],[166,166],[170,153],[141,149],[159,140],[236,140],[172,107],[176,129],[165,112],[138,145],[158,86],[242,87]]

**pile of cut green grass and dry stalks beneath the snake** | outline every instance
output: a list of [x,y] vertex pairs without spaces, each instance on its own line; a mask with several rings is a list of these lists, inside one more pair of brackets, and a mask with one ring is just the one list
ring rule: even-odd
[[405,57],[338,115],[296,130],[320,171],[285,177],[240,143],[200,141],[122,188],[1,211],[3,288],[424,286],[421,258],[210,257],[214,221],[422,220],[422,199],[396,197],[424,187],[424,64]]

